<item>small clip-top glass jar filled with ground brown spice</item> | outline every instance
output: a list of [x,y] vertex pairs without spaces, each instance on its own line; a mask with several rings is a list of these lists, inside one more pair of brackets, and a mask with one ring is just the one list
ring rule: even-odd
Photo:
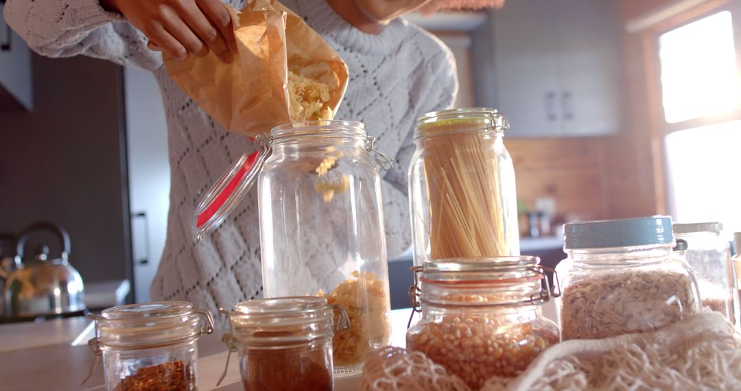
[[341,307],[308,296],[253,299],[227,315],[223,339],[239,354],[245,391],[333,390],[332,337],[350,326]]

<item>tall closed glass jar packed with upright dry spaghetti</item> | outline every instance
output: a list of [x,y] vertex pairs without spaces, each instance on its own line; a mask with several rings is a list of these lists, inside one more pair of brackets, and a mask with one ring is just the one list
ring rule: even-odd
[[414,263],[519,255],[509,124],[488,108],[420,116],[409,198]]

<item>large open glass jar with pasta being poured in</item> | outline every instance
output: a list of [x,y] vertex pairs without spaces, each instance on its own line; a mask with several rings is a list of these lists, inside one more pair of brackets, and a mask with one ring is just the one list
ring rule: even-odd
[[237,161],[199,205],[200,234],[217,227],[256,181],[265,297],[318,295],[342,307],[351,326],[334,335],[335,372],[359,372],[365,353],[391,340],[373,153],[385,156],[353,121],[280,126],[258,141],[262,150]]

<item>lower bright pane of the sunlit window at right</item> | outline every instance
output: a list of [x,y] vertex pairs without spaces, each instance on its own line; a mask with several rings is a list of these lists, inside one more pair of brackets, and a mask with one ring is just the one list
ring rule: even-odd
[[665,142],[674,218],[741,232],[741,121],[670,133]]

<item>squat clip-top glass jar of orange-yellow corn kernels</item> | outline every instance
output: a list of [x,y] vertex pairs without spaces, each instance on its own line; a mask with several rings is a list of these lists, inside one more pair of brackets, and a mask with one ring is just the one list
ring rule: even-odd
[[[479,390],[493,376],[514,377],[558,342],[540,304],[551,299],[536,257],[427,263],[417,268],[422,319],[407,332],[422,352]],[[415,299],[416,301],[416,299]]]

